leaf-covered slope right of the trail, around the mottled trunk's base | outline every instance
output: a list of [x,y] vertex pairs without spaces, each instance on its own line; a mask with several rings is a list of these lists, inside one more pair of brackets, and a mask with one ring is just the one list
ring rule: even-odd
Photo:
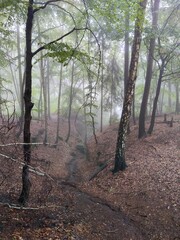
[[[98,146],[93,140],[89,143],[89,149],[96,149],[90,151],[92,172],[94,162],[112,161],[82,187],[120,208],[151,240],[180,239],[180,122],[175,119],[173,128],[157,119],[153,135],[142,140],[137,140],[137,127],[132,127],[127,139],[128,168],[116,175],[110,170],[118,126],[100,134]],[[88,179],[90,171],[83,172]]]

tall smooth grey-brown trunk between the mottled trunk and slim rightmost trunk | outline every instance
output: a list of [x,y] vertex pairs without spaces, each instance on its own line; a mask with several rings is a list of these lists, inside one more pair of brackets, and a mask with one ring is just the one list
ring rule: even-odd
[[150,46],[149,52],[147,57],[147,72],[146,72],[146,80],[145,80],[145,87],[144,93],[141,103],[140,115],[139,115],[139,138],[146,136],[145,130],[145,118],[146,118],[146,110],[147,110],[147,103],[152,79],[152,69],[153,69],[153,55],[155,49],[155,31],[157,29],[157,22],[158,22],[158,11],[159,11],[159,3],[160,0],[154,0],[154,7],[152,13],[152,30],[154,35],[150,39]]

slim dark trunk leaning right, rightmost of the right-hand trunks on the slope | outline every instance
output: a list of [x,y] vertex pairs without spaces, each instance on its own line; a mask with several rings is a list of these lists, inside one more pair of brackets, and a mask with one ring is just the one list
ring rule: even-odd
[[148,134],[151,134],[153,132],[153,129],[154,129],[156,110],[157,110],[157,103],[158,103],[158,98],[159,98],[159,94],[160,94],[160,90],[161,90],[161,83],[162,83],[162,77],[163,77],[163,73],[164,73],[164,68],[165,68],[165,62],[162,61],[162,65],[161,65],[161,69],[160,69],[159,77],[158,77],[156,95],[155,95],[154,102],[153,102],[151,123],[150,123],[150,127],[148,129]]

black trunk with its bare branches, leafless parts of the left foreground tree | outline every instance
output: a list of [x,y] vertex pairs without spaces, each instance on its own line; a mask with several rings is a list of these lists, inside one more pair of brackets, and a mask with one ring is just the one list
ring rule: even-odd
[[[64,34],[63,36],[44,44],[43,46],[39,47],[36,51],[32,52],[32,27],[33,27],[33,18],[34,14],[37,13],[39,10],[46,8],[49,4],[53,2],[61,2],[60,0],[49,0],[47,2],[39,2],[40,7],[33,8],[34,0],[28,1],[28,11],[27,11],[27,20],[26,20],[26,56],[25,56],[25,90],[24,90],[24,167],[22,171],[22,191],[19,197],[19,203],[25,204],[29,198],[29,192],[31,187],[31,182],[29,178],[29,165],[31,164],[31,110],[33,108],[33,103],[31,101],[31,92],[32,92],[32,58],[41,52],[44,49],[47,49],[50,45],[57,43],[58,41],[62,40],[66,36],[70,35],[73,32],[77,31],[85,31],[85,28],[72,28],[69,32]],[[59,53],[58,53],[59,54]],[[72,57],[72,56],[71,56]]]

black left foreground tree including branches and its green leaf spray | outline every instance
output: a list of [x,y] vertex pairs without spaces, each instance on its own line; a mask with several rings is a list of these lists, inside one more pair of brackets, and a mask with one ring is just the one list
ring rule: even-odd
[[[63,36],[44,44],[39,47],[37,50],[32,52],[32,27],[33,27],[33,18],[39,10],[45,9],[50,3],[61,2],[59,0],[49,0],[45,3],[38,2],[39,7],[34,7],[34,0],[28,1],[28,11],[27,11],[27,20],[26,20],[26,55],[25,55],[25,91],[24,91],[24,102],[25,102],[25,114],[24,114],[24,166],[22,171],[22,191],[19,197],[19,202],[25,204],[29,198],[29,192],[31,187],[30,177],[29,177],[29,165],[31,163],[31,110],[33,108],[33,103],[31,100],[32,97],[32,59],[33,57],[41,52],[44,49],[49,50],[46,56],[53,57],[58,59],[59,62],[68,62],[75,57],[77,59],[87,56],[83,52],[77,50],[77,47],[73,48],[68,44],[59,43],[58,41],[62,40],[66,36],[72,34],[73,32],[85,31],[87,28],[77,28],[76,24],[74,28],[65,33]],[[57,5],[58,6],[58,5]],[[73,18],[74,20],[74,18]],[[78,43],[79,44],[79,43]]]

